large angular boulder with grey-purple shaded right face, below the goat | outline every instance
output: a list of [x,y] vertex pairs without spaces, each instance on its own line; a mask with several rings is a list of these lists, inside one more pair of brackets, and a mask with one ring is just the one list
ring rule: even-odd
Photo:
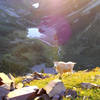
[[55,96],[56,94],[66,91],[64,84],[61,80],[53,80],[46,87],[46,92],[50,97]]

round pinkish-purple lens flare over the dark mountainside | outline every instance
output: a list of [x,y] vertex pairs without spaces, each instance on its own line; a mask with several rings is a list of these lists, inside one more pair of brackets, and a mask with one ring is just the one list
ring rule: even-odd
[[53,46],[63,45],[72,34],[68,21],[63,16],[47,16],[42,19],[39,31],[45,37],[40,37],[45,43]]

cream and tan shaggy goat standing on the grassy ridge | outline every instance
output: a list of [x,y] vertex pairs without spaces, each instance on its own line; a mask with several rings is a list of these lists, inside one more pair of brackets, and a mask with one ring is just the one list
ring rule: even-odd
[[54,68],[58,73],[60,73],[60,75],[62,75],[65,72],[73,72],[75,64],[75,62],[56,61],[54,62]]

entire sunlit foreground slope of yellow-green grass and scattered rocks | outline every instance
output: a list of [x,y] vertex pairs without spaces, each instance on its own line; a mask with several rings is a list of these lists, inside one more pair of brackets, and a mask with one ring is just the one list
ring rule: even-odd
[[0,73],[1,100],[99,100],[99,94],[100,68],[63,73],[60,79],[59,74],[34,72],[14,78]]

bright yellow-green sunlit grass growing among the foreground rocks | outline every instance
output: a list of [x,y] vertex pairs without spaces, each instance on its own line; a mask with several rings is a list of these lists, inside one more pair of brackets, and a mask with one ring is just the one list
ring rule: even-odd
[[[62,81],[67,89],[74,89],[78,92],[79,98],[75,100],[83,100],[84,96],[87,96],[86,100],[100,100],[100,89],[82,89],[80,83],[90,82],[100,85],[100,79],[95,80],[95,75],[100,75],[100,69],[95,69],[90,72],[79,71],[71,75],[63,74]],[[58,75],[50,75],[50,78],[43,80],[34,80],[26,85],[37,85],[39,88],[45,87],[50,81],[57,79]],[[21,81],[21,77],[16,78],[16,82]],[[64,100],[70,100],[64,98]]]

